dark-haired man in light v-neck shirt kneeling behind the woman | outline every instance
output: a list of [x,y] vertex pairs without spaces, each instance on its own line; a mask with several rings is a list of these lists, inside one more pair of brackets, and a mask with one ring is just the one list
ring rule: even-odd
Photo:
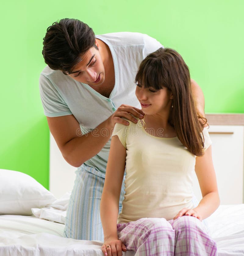
[[[48,27],[43,45],[49,66],[40,76],[44,113],[64,159],[78,167],[64,235],[103,241],[99,206],[111,132],[116,122],[127,125],[121,117],[133,122],[133,116],[143,117],[135,74],[141,61],[162,45],[140,33],[95,36],[74,19]],[[194,81],[192,91],[204,113],[203,93]],[[122,189],[120,210],[123,194]]]

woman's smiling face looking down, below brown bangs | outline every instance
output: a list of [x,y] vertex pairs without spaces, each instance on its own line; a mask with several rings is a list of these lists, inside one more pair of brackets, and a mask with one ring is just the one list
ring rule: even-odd
[[173,95],[168,88],[163,87],[160,90],[154,88],[145,88],[137,84],[135,95],[142,106],[145,114],[153,115],[169,111],[172,105]]

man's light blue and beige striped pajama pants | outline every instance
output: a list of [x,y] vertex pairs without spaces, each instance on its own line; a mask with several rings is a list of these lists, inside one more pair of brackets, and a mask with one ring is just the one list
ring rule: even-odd
[[[104,180],[105,173],[86,164],[82,164],[77,169],[66,213],[64,237],[79,240],[104,240],[100,219],[100,201]],[[124,182],[119,212],[123,199]]]

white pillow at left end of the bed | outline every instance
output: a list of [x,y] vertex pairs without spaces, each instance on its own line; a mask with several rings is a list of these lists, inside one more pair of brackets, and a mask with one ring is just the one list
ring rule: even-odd
[[31,208],[42,208],[55,200],[29,175],[0,169],[0,214],[32,215]]

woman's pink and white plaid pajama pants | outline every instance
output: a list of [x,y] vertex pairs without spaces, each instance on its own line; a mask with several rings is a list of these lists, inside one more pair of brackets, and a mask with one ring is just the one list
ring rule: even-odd
[[136,256],[217,256],[215,241],[205,225],[192,216],[167,221],[142,218],[117,224],[119,239]]

